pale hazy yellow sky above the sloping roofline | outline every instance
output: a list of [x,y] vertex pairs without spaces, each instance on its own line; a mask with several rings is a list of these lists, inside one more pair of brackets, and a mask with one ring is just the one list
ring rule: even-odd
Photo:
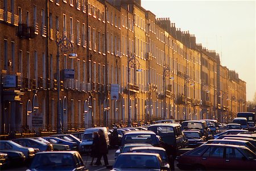
[[256,92],[256,1],[141,0],[156,18],[195,35],[196,43],[220,54],[221,65],[246,82],[246,100]]

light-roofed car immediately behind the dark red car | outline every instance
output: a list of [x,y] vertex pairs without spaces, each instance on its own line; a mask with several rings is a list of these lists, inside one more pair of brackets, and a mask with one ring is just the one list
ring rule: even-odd
[[246,140],[238,140],[238,139],[210,139],[205,144],[232,144],[238,146],[245,146],[249,148],[254,153],[256,152],[256,147]]

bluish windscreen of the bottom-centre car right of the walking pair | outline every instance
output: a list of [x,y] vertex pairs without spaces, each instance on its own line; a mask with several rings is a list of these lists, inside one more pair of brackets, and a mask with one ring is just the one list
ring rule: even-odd
[[115,161],[113,168],[125,169],[160,169],[156,156],[150,155],[120,155]]

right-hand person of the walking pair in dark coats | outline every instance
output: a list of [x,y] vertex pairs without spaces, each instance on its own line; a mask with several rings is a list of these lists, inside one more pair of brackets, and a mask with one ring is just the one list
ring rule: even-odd
[[98,156],[98,159],[96,161],[96,165],[101,165],[101,157],[103,156],[103,159],[104,159],[104,164],[105,165],[109,165],[109,161],[108,161],[108,145],[106,143],[106,138],[105,138],[105,135],[104,135],[104,132],[102,130],[98,130],[98,134],[100,135],[100,138],[99,138],[99,153],[100,155]]

